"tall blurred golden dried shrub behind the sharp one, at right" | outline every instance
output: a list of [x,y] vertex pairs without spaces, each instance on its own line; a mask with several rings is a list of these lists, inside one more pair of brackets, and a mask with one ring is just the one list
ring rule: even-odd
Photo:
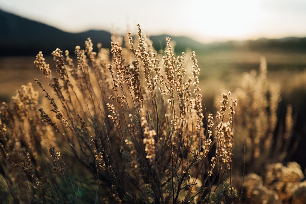
[[[278,121],[280,86],[268,83],[264,57],[261,58],[259,73],[255,70],[246,73],[242,87],[235,91],[235,95],[241,101],[234,118],[235,135],[240,137],[235,140],[233,159],[241,171],[245,166],[247,173],[263,176],[264,166],[284,162],[288,157],[294,126],[292,106],[287,106],[285,121]],[[245,154],[241,154],[243,152]]]

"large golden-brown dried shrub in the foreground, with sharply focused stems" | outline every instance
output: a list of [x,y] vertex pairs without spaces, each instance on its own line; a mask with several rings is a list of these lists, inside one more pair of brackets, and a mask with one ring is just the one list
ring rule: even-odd
[[[112,40],[111,50],[99,45],[95,53],[88,38],[85,49],[76,46],[75,64],[68,51],[56,49],[56,76],[43,54],[36,56],[50,89],[35,82],[49,104],[38,108],[28,84],[1,108],[4,198],[204,203],[213,186],[230,177],[237,106],[231,93],[222,95],[215,117],[206,118],[195,52],[188,68],[185,53],[175,56],[170,38],[161,55],[140,26],[125,44],[117,35]],[[224,185],[225,194],[237,196]]]

